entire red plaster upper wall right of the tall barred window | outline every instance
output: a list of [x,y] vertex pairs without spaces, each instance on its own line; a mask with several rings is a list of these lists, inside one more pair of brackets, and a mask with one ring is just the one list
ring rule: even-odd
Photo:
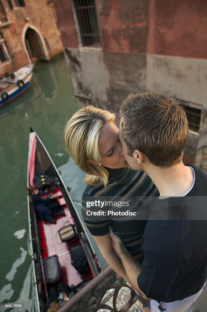
[[206,59],[206,1],[96,0],[96,7],[104,51]]

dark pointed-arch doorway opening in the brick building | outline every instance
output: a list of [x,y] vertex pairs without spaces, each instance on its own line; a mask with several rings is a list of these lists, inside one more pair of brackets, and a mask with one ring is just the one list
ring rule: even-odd
[[28,27],[25,33],[25,45],[32,62],[48,59],[43,38],[31,27]]

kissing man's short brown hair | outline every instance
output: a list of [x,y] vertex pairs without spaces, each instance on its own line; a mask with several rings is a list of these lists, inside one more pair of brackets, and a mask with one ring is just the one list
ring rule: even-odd
[[188,135],[183,108],[168,95],[155,92],[130,94],[120,108],[122,138],[127,154],[143,152],[155,166],[180,163]]

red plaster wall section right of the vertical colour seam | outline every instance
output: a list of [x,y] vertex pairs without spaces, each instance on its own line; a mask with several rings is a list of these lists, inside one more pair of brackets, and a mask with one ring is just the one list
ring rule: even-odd
[[147,53],[206,59],[207,2],[150,0]]

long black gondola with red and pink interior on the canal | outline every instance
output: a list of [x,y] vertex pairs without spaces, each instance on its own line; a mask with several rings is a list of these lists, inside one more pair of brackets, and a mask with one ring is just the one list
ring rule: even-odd
[[[27,186],[39,189],[46,198],[54,193],[65,215],[56,215],[55,224],[40,219],[31,197],[27,196],[31,259],[35,280],[35,293],[39,312],[48,309],[49,290],[58,289],[59,283],[69,286],[84,285],[95,277],[101,266],[81,218],[68,190],[38,135],[30,129]],[[71,250],[80,247],[87,265],[80,270],[71,263]]]

